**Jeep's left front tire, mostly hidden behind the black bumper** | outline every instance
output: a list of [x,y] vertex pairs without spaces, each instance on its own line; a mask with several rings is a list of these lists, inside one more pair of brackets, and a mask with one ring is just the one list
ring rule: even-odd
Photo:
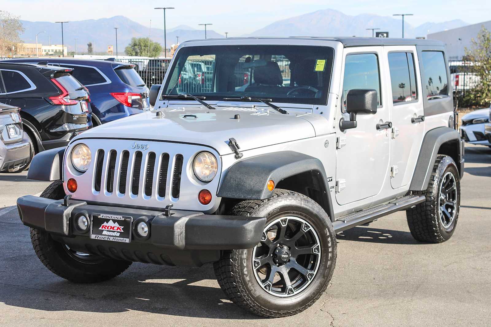
[[[44,190],[41,197],[60,200],[65,196],[63,182],[56,180]],[[115,260],[91,255],[90,260],[77,259],[70,255],[66,246],[55,241],[50,233],[30,228],[32,247],[43,265],[52,273],[75,283],[94,283],[118,276],[131,264],[130,261]]]

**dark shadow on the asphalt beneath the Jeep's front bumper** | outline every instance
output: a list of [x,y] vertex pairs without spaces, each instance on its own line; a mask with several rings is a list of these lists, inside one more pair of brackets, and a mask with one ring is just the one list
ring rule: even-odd
[[[95,284],[75,284],[55,275],[46,276],[49,281],[43,280],[39,283],[39,277],[26,276],[25,272],[15,274],[17,276],[10,278],[16,280],[16,285],[0,283],[2,284],[0,302],[43,311],[119,313],[136,310],[196,318],[260,319],[227,299],[223,291],[216,287],[218,286],[214,282],[216,277],[210,265],[199,269],[175,267],[162,269],[156,266],[161,270],[146,278],[140,275],[143,269],[148,267],[150,270],[155,270],[155,268],[152,269],[150,265],[144,264],[134,265],[138,266],[137,269],[132,266],[120,277]],[[142,268],[143,265],[145,267]],[[33,273],[40,273],[40,271]],[[46,270],[46,273],[49,272]],[[46,274],[43,271],[41,275]],[[35,281],[36,284],[33,285],[31,281]],[[205,283],[207,285],[204,285]]]

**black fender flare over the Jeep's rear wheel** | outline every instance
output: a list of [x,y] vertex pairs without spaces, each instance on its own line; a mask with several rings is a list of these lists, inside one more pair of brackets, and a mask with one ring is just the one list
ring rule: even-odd
[[453,156],[453,159],[462,178],[462,175],[464,174],[464,147],[460,134],[457,130],[450,127],[437,127],[429,130],[423,138],[409,190],[424,191],[428,188],[438,150],[443,144],[452,141],[456,141],[458,146],[456,155]]

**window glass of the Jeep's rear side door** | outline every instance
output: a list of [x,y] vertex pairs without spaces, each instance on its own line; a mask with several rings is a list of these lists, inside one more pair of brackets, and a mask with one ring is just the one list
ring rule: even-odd
[[411,52],[391,52],[388,54],[392,102],[402,103],[418,99]]

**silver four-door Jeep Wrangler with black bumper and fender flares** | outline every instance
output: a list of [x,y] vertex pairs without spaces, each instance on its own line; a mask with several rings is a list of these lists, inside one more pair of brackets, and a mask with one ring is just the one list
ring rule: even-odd
[[261,316],[326,290],[336,233],[406,210],[421,242],[457,225],[464,147],[445,50],[428,40],[181,44],[153,110],[37,154],[19,198],[43,264],[110,279],[133,261],[199,267]]

